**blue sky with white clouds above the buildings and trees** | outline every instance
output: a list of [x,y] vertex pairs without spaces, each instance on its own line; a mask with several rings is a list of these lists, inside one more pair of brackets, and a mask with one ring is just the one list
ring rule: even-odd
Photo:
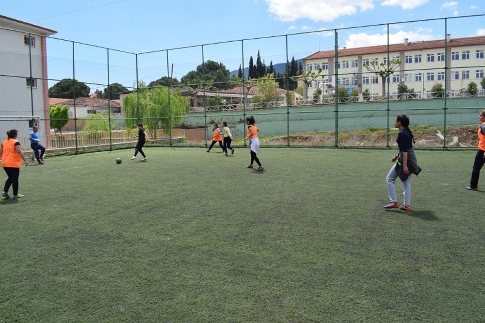
[[[485,13],[482,0],[30,0],[28,5],[2,0],[0,14],[56,30],[59,38],[131,52],[178,48],[297,32],[311,32],[406,20]],[[450,19],[452,37],[485,35],[485,19]],[[444,22],[396,24],[389,27],[391,43],[444,38]],[[383,26],[339,32],[339,47],[385,44]],[[332,49],[333,32],[288,37],[289,57],[301,58]],[[269,65],[286,60],[285,37],[244,42],[244,64],[258,49]],[[49,78],[72,77],[71,45],[48,42]],[[202,62],[201,48],[169,52],[174,77]],[[204,59],[222,62],[230,70],[242,63],[241,42],[204,47]],[[166,52],[139,55],[139,79],[167,75]],[[110,53],[110,82],[131,86],[136,80],[132,55]],[[77,46],[76,78],[104,84],[106,52]],[[50,82],[49,82],[50,83]],[[95,88],[96,86],[91,86]]]

